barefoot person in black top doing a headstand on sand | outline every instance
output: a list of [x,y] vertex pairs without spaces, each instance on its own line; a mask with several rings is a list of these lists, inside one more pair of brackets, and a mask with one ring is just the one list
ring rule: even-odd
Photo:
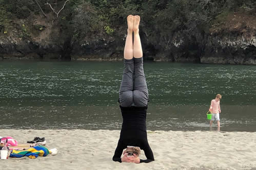
[[[148,163],[154,161],[154,156],[148,144],[146,131],[148,88],[144,75],[143,52],[139,35],[140,16],[129,15],[127,24],[124,71],[119,91],[123,124],[113,161]],[[132,33],[134,34],[133,42]],[[124,149],[126,150],[123,152]],[[144,150],[146,160],[139,158],[140,149]]]

